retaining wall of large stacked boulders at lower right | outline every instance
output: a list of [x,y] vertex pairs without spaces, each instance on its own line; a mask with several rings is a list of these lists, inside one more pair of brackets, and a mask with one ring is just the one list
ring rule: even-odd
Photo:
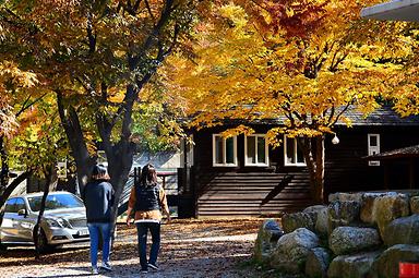
[[399,262],[419,263],[419,193],[335,193],[328,206],[266,219],[254,258],[308,277],[398,277]]

